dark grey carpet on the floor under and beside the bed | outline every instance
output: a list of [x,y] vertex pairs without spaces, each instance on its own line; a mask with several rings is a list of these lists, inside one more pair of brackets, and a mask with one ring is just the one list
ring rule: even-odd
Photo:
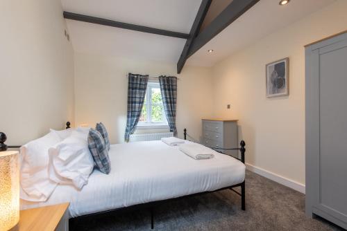
[[[305,195],[246,172],[246,211],[223,190],[155,207],[154,230],[342,230],[305,217]],[[151,230],[149,210],[109,212],[70,220],[70,230]]]

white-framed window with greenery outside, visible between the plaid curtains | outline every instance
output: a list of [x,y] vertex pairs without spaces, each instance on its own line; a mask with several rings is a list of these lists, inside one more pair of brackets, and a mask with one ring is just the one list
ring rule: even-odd
[[138,129],[167,128],[167,117],[162,104],[162,93],[158,82],[147,84],[144,107],[137,124]]

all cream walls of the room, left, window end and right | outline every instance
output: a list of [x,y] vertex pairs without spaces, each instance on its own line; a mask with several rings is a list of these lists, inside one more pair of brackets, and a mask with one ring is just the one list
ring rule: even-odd
[[[78,124],[104,122],[124,141],[126,74],[176,75],[178,133],[201,136],[201,118],[239,119],[246,161],[305,183],[304,45],[347,29],[340,0],[260,39],[212,69],[73,53],[59,0],[0,1],[0,131],[8,145]],[[289,57],[289,96],[266,98],[265,65]],[[75,77],[74,77],[75,76]],[[232,104],[227,110],[226,104]]]

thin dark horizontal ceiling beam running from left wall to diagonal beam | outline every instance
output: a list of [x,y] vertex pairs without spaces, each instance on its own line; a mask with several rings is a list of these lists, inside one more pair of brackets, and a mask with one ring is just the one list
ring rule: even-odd
[[72,12],[63,12],[64,18],[65,19],[72,19],[76,21],[85,21],[91,24],[99,24],[103,26],[112,26],[112,27],[117,27],[117,28],[122,28],[126,30],[136,30],[144,33],[151,33],[155,35],[164,35],[164,36],[169,36],[169,37],[176,37],[180,39],[188,39],[189,35],[185,33],[179,33],[179,32],[174,32],[174,31],[169,31],[169,30],[161,30],[161,29],[156,29],[156,28],[151,28],[147,26],[139,26],[135,24],[126,24],[124,22],[120,21],[112,21],[109,19],[102,19],[98,17],[92,17],[92,16],[87,16],[87,15],[79,15],[75,14]]

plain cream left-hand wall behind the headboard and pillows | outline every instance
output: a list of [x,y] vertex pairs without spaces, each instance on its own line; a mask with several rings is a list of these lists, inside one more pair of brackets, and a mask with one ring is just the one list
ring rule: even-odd
[[0,29],[0,131],[24,145],[74,120],[74,53],[60,0],[0,1]]

